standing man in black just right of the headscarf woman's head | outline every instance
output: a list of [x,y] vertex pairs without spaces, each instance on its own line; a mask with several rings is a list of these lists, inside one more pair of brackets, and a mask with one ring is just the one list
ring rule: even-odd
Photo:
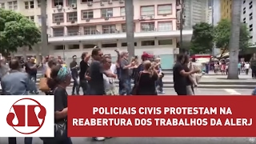
[[74,91],[76,91],[76,93],[79,95],[79,83],[78,83],[78,62],[77,62],[77,56],[74,55],[73,57],[73,61],[70,62],[70,71],[71,71],[71,75],[72,78],[74,79],[74,84],[73,84],[73,88],[72,88],[72,95],[74,94]]

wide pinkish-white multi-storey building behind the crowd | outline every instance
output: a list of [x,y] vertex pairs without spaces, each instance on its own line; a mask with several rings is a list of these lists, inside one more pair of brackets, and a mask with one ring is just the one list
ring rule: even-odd
[[[0,3],[40,26],[40,0],[0,0]],[[181,7],[178,5],[176,0],[134,0],[135,54],[149,52],[159,56],[164,69],[172,68],[174,54],[178,54],[176,11]],[[116,48],[126,50],[124,6],[124,0],[47,0],[50,54],[70,59],[74,54],[90,52],[95,45],[113,56]],[[190,41],[191,35],[192,30],[183,30],[184,41]],[[35,50],[40,51],[40,46]]]

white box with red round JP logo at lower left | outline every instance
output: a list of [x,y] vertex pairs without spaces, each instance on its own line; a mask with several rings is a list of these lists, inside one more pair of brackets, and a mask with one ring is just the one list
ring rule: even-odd
[[8,97],[8,106],[4,105],[8,137],[54,137],[54,96]]

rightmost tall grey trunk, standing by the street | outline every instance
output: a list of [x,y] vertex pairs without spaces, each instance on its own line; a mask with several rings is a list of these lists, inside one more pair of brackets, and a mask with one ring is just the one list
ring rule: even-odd
[[[232,21],[231,21],[231,34],[230,34],[230,64],[229,64],[229,74],[228,79],[238,79],[238,54],[239,48],[242,41],[241,35],[241,1],[233,0],[232,1]],[[243,29],[242,29],[243,30]],[[248,43],[248,42],[247,42]]]

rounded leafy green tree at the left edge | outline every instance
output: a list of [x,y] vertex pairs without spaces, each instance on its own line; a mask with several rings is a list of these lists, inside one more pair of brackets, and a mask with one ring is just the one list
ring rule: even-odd
[[0,53],[8,55],[22,46],[31,50],[40,39],[40,31],[34,22],[22,14],[0,9]]

